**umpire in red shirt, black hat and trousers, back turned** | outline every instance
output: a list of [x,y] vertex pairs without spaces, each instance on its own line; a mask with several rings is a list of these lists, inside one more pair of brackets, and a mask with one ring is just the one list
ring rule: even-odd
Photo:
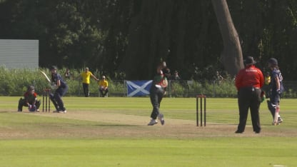
[[261,123],[259,108],[261,104],[261,88],[264,83],[262,71],[256,68],[256,61],[248,56],[244,61],[245,68],[236,75],[235,86],[238,91],[239,123],[235,133],[243,133],[248,118],[248,108],[251,110],[253,131],[260,133]]

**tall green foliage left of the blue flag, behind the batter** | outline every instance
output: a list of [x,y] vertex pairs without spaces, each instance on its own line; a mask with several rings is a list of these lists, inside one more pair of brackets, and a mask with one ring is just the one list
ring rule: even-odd
[[[51,72],[49,69],[40,69],[44,71],[49,77]],[[66,69],[59,69],[58,73],[65,79]],[[69,90],[66,96],[83,96],[82,83],[81,83],[81,71],[71,70],[71,79],[65,79],[69,86]],[[96,75],[96,74],[94,74]],[[99,76],[97,76],[99,78]],[[5,69],[0,68],[0,96],[22,96],[28,86],[35,86],[36,93],[41,94],[45,88],[50,88],[49,83],[45,77],[40,73],[39,69]],[[124,96],[126,88],[124,88],[124,81],[112,81],[108,78],[109,90],[111,94],[116,96]],[[99,89],[98,83],[94,79],[91,79],[89,85],[89,91],[92,96],[98,96]]]

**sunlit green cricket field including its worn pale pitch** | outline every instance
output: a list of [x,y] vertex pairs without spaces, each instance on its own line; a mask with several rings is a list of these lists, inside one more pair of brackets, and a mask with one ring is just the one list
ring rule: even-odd
[[19,98],[0,97],[0,166],[297,166],[296,99],[281,125],[264,102],[261,133],[248,118],[236,134],[236,98],[207,98],[206,127],[195,98],[163,98],[164,126],[146,126],[149,98],[64,97],[66,114],[16,112]]

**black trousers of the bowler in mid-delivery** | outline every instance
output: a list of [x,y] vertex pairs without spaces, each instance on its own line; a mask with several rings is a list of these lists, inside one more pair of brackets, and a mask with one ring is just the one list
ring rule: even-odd
[[155,85],[151,85],[149,93],[151,98],[151,105],[153,106],[153,111],[151,111],[151,118],[156,119],[158,114],[160,113],[159,108],[164,95],[164,89],[157,88]]

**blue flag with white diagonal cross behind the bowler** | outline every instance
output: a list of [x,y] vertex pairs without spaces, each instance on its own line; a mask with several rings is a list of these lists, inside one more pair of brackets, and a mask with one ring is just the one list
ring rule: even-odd
[[127,83],[127,96],[146,96],[149,94],[149,89],[151,88],[151,83],[153,80],[149,81],[126,81]]

